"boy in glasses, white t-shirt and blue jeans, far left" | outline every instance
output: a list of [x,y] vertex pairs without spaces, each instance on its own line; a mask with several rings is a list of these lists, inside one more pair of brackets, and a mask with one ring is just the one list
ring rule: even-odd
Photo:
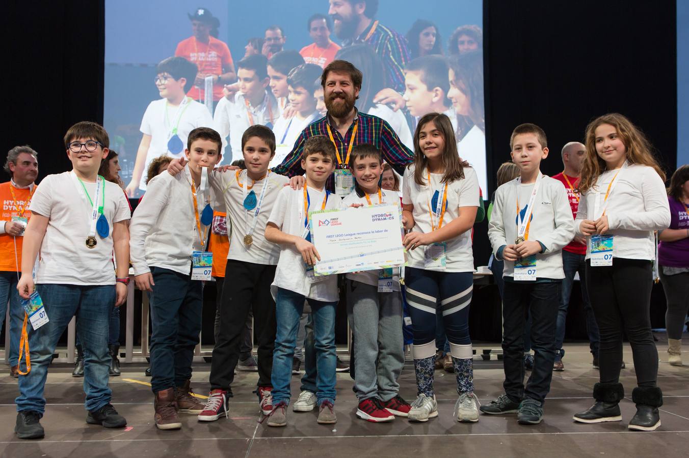
[[[85,353],[86,422],[105,428],[127,424],[110,404],[112,391],[107,386],[111,360],[107,323],[112,307],[119,307],[127,298],[130,219],[121,188],[98,175],[109,145],[107,132],[99,124],[74,124],[65,134],[72,171],[45,177],[31,199],[32,217],[24,232],[17,290],[31,305],[40,305],[43,300],[48,322],[34,323],[33,316],[32,323],[24,321],[22,334],[28,331],[31,358],[26,358],[26,373],[19,377],[19,397],[15,400],[14,432],[19,439],[44,436],[39,419],[45,412],[43,390],[48,366],[60,336],[75,315]],[[39,250],[34,293],[32,274]],[[19,351],[21,356],[21,347]]]

